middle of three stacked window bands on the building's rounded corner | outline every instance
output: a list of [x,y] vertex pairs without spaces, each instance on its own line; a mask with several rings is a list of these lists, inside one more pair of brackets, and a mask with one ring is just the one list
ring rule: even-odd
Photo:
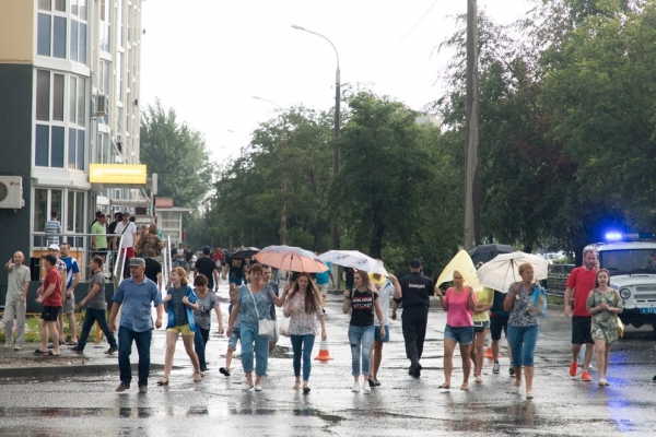
[[[67,80],[68,98],[66,97]],[[34,165],[84,169],[85,96],[86,80],[84,78],[59,74],[48,70],[36,71],[37,121],[34,134]]]

